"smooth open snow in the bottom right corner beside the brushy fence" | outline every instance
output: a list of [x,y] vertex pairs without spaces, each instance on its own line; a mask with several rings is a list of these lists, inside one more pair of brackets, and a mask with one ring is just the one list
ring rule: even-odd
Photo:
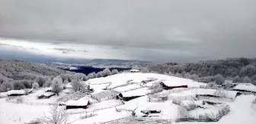
[[[236,98],[235,102],[229,103],[230,112],[219,119],[219,122],[207,122],[214,124],[255,124],[256,110],[251,108],[251,101],[255,98],[254,95],[242,95]],[[178,122],[182,124],[197,124],[205,122]]]

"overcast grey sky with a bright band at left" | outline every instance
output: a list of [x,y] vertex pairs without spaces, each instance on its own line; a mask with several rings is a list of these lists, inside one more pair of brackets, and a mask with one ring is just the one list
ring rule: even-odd
[[255,57],[255,22],[255,0],[0,0],[0,57]]

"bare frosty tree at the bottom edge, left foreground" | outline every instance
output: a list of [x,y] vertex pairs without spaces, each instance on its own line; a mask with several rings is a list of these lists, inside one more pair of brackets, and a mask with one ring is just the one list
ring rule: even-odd
[[57,104],[50,106],[50,116],[41,116],[38,121],[46,124],[66,124],[69,119],[69,114],[64,108],[60,108]]

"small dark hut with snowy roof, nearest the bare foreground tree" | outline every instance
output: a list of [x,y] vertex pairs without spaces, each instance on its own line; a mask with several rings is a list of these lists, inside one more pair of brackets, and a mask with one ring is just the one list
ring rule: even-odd
[[67,101],[66,103],[64,103],[64,105],[66,106],[66,110],[79,108],[87,109],[89,104],[90,101],[85,99],[81,99],[78,101]]

